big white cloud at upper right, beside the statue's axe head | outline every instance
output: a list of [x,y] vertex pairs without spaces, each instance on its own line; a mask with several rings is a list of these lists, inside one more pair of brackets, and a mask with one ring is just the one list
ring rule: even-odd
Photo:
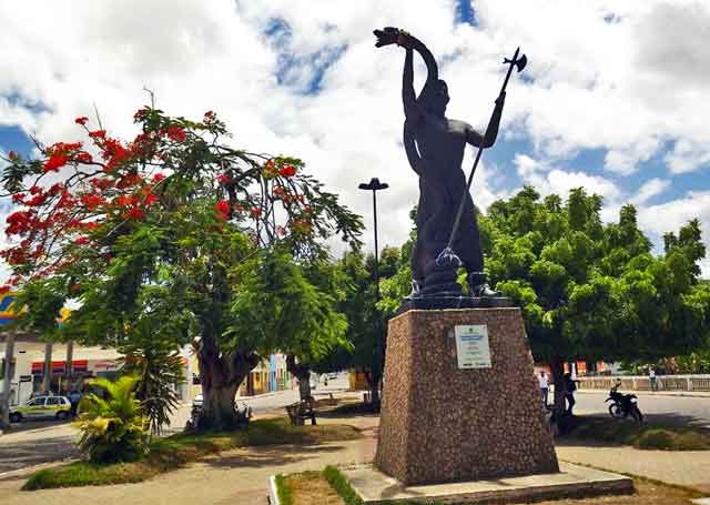
[[605,149],[606,168],[628,175],[663,141],[710,141],[699,85],[709,71],[698,63],[708,61],[707,2],[483,0],[477,8],[487,34],[528,53],[535,82],[515,84],[511,109],[542,156]]

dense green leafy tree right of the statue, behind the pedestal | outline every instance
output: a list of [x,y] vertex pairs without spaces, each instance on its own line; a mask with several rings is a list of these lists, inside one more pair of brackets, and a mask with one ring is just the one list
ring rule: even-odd
[[562,203],[525,188],[481,219],[490,277],[521,306],[532,353],[550,364],[558,393],[567,360],[657,360],[710,336],[698,222],[666,235],[666,253],[655,256],[632,205],[608,225],[600,209],[582,189]]

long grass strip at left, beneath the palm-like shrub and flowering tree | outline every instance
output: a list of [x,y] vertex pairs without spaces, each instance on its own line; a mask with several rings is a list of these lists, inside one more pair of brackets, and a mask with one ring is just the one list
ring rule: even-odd
[[357,430],[347,425],[292,426],[283,417],[260,420],[252,422],[248,428],[236,432],[179,434],[166,438],[155,438],[151,443],[151,451],[145,459],[135,463],[74,462],[44,468],[32,474],[22,489],[136,483],[179,468],[209,454],[231,448],[277,444],[318,444],[361,437]]

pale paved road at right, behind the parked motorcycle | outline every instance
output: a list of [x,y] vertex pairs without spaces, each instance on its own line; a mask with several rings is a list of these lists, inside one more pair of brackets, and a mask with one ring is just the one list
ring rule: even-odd
[[[710,427],[710,396],[667,396],[638,393],[639,408],[649,422]],[[607,392],[578,392],[575,412],[608,415]]]

